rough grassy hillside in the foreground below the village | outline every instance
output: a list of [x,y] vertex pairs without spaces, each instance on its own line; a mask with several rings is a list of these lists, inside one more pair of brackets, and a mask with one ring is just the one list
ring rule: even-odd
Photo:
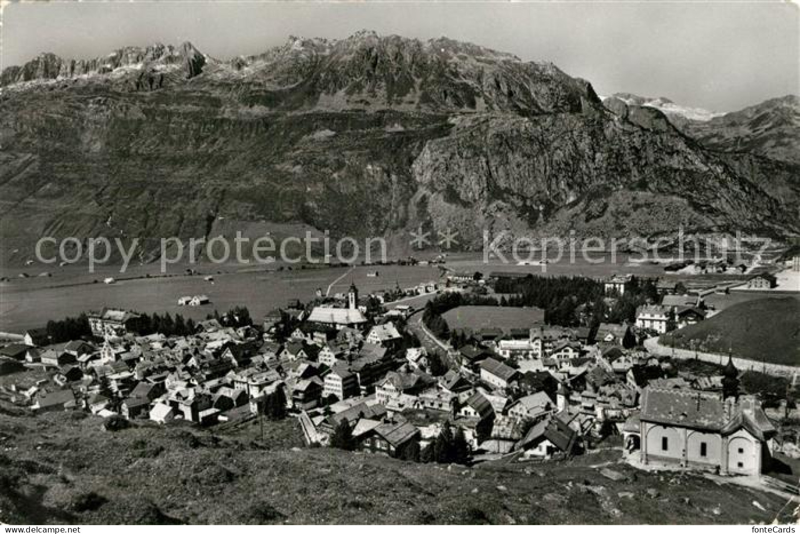
[[[615,449],[560,464],[464,468],[297,448],[294,420],[266,424],[263,445],[253,440],[258,425],[226,436],[101,428],[98,417],[30,416],[0,401],[0,521],[747,524],[770,522],[785,502],[701,476],[637,472],[616,464]],[[626,479],[602,476],[609,463]]]

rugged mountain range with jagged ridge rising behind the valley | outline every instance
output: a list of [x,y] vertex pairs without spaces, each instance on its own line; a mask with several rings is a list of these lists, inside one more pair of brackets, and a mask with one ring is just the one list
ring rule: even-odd
[[[40,54],[0,74],[0,242],[284,231],[798,235],[798,97],[729,114],[601,99],[447,38]],[[145,242],[150,243],[150,242]],[[12,254],[12,251],[16,251]],[[139,257],[154,259],[142,245]]]

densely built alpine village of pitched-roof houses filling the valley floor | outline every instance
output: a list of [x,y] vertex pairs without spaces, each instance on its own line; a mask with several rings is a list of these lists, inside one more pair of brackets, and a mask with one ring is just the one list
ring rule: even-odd
[[[260,321],[237,308],[188,326],[170,318],[170,328],[105,308],[86,316],[89,335],[51,343],[42,328],[0,348],[2,394],[32,412],[90,412],[109,427],[293,418],[310,447],[414,462],[558,462],[615,445],[639,468],[760,476],[774,452],[797,456],[796,436],[785,440],[778,424],[794,409],[796,375],[766,408],[731,355],[709,370],[646,350],[646,339],[714,315],[702,293],[614,275],[595,306],[649,294],[634,320],[562,326],[566,300],[545,310],[508,291],[542,280],[450,270],[409,290],[320,289]],[[18,387],[14,375],[31,369],[46,377]]]

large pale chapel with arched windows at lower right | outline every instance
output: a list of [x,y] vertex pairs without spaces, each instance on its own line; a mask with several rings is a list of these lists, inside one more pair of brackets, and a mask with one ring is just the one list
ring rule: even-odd
[[753,396],[651,389],[642,395],[639,432],[627,446],[644,464],[680,465],[723,474],[758,475],[770,459],[776,431]]

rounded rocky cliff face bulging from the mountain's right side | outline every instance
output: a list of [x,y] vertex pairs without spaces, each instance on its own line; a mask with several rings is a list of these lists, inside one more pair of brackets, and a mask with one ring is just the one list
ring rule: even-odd
[[434,224],[459,228],[476,213],[486,226],[562,236],[657,235],[679,225],[774,234],[792,224],[780,194],[662,127],[585,114],[463,118],[426,144],[414,175]]

